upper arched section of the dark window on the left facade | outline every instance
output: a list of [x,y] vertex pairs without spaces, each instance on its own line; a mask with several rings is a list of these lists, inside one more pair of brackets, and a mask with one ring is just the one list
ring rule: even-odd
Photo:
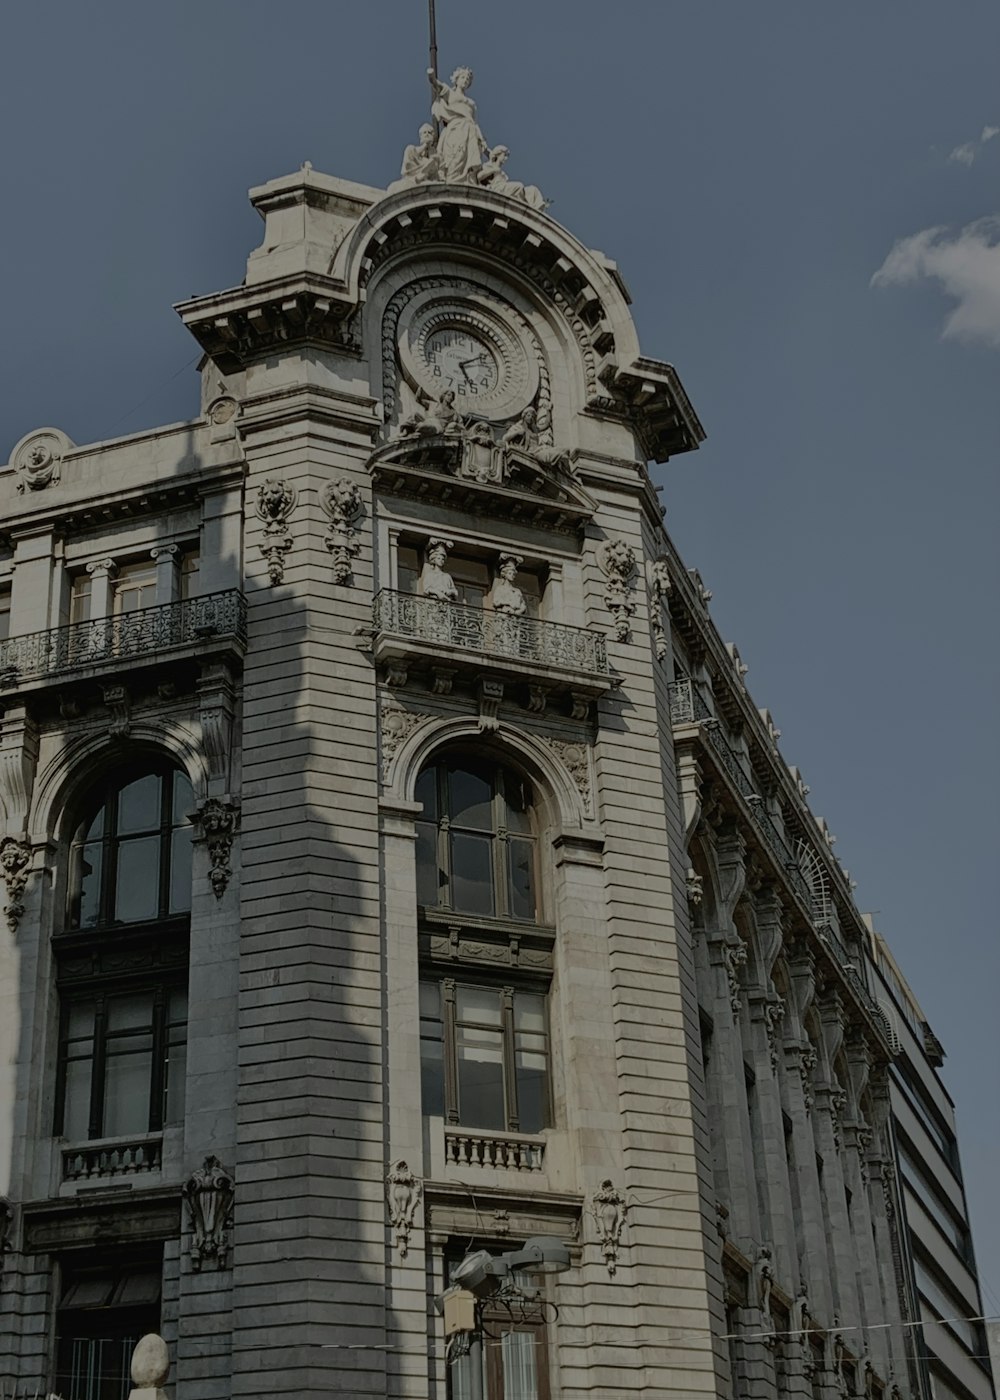
[[176,769],[119,780],[77,827],[70,928],[134,924],[190,909],[190,783]]

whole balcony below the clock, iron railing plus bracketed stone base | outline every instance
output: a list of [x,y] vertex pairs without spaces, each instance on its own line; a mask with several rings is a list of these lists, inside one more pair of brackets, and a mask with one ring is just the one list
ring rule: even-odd
[[615,685],[599,631],[389,588],[375,596],[374,654],[391,683],[405,683],[409,669],[430,671],[437,693],[451,689],[455,675],[522,682],[532,710],[548,694],[587,701]]

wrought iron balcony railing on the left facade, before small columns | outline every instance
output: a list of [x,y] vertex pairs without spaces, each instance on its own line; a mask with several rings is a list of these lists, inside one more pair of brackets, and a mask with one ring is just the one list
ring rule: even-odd
[[238,588],[10,637],[0,643],[0,690],[91,666],[155,661],[210,640],[245,644],[246,599]]

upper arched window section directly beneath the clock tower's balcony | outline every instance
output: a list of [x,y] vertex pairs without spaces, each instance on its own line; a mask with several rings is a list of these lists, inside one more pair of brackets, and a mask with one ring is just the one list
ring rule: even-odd
[[531,785],[513,769],[458,753],[416,785],[417,902],[497,918],[538,914]]

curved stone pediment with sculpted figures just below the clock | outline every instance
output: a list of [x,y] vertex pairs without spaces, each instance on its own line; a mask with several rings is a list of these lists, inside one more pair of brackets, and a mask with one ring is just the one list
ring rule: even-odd
[[468,430],[408,431],[377,448],[368,470],[394,496],[437,500],[476,515],[548,529],[583,531],[597,503],[576,480],[566,454],[550,448],[542,454]]

